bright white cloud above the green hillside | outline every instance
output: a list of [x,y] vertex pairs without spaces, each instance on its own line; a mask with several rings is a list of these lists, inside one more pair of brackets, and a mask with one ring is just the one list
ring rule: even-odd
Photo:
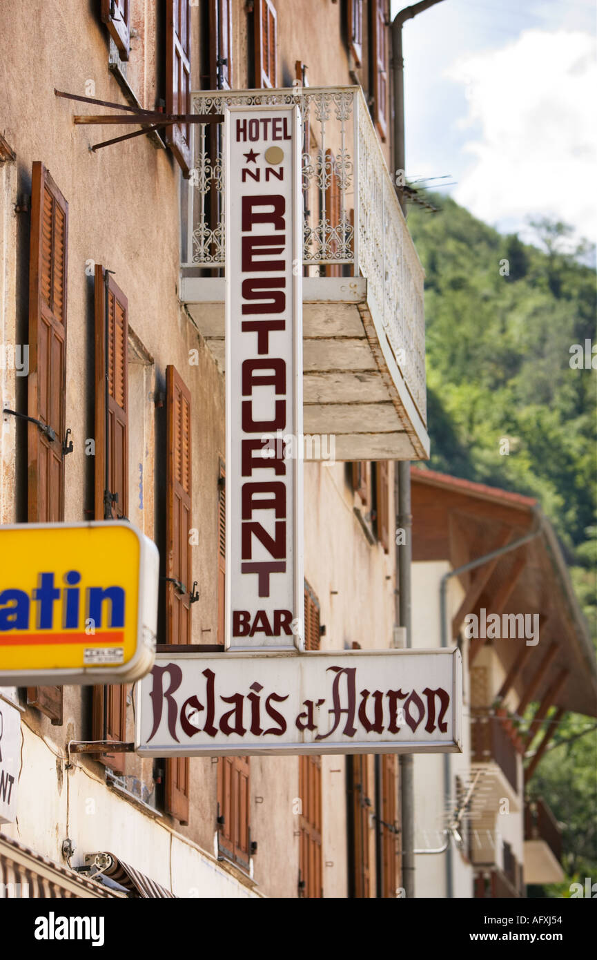
[[597,239],[595,40],[530,30],[498,50],[463,57],[446,76],[464,84],[456,126],[472,161],[454,198],[498,227],[528,216],[571,224]]

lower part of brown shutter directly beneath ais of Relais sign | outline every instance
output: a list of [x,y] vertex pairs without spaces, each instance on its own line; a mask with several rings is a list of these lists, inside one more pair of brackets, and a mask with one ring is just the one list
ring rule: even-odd
[[249,756],[218,758],[218,850],[245,870],[250,861]]

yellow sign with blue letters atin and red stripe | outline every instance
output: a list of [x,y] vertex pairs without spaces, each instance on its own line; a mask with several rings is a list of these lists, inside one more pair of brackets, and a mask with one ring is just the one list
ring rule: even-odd
[[158,572],[155,543],[130,523],[0,527],[0,686],[143,676]]

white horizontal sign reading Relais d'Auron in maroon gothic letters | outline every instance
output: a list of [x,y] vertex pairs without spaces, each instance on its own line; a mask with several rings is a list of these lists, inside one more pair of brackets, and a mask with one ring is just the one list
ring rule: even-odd
[[147,756],[458,753],[460,651],[159,653],[140,684]]

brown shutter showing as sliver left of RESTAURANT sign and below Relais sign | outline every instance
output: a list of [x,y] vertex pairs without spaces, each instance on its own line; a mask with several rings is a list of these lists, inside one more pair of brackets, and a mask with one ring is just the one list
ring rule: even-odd
[[[218,643],[226,639],[226,469],[218,471]],[[218,757],[218,851],[243,870],[250,867],[250,758]]]

